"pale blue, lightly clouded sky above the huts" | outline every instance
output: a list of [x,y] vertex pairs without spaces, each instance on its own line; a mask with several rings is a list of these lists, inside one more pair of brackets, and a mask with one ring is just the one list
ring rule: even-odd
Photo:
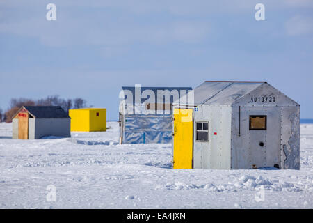
[[311,0],[1,0],[0,107],[58,94],[117,119],[121,86],[265,80],[313,118],[312,40]]

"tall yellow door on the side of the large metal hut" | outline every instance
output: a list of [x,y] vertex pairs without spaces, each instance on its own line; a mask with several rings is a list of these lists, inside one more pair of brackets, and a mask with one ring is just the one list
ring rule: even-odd
[[193,109],[174,109],[173,168],[193,168]]

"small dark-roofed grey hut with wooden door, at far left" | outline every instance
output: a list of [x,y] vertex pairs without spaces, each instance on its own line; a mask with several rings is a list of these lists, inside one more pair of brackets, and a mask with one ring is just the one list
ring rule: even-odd
[[12,122],[13,139],[71,136],[71,119],[60,106],[23,106]]

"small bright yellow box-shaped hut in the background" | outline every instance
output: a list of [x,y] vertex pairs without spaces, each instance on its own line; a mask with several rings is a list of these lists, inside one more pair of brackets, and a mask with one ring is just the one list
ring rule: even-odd
[[70,109],[71,132],[102,132],[106,130],[106,109]]

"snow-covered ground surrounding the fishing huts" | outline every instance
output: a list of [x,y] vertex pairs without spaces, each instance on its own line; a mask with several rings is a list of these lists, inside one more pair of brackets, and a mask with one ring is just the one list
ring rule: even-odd
[[300,171],[173,170],[170,144],[119,145],[108,125],[13,140],[0,123],[0,208],[313,208],[312,124],[300,127]]

